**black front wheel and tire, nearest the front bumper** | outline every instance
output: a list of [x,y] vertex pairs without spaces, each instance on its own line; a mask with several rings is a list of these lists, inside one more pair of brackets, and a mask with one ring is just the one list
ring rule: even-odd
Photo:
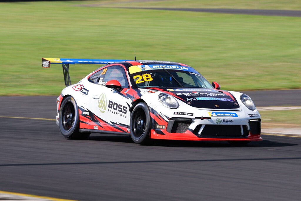
[[150,144],[150,131],[151,116],[148,105],[145,102],[139,102],[131,114],[131,138],[137,144]]

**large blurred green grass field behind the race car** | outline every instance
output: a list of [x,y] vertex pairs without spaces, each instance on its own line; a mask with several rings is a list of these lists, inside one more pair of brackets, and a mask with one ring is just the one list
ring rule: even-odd
[[[301,86],[299,17],[78,4],[0,3],[0,95],[59,94],[64,88],[61,65],[42,68],[42,57],[133,59],[134,49],[140,60],[191,65],[224,90]],[[70,68],[75,83],[98,67]]]

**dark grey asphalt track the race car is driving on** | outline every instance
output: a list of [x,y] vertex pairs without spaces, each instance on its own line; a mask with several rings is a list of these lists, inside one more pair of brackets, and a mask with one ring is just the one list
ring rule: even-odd
[[[285,93],[287,105],[287,94],[300,90],[269,93]],[[183,141],[140,146],[129,136],[98,133],[67,140],[53,121],[55,100],[0,97],[0,190],[95,201],[300,200],[300,137],[263,135],[262,142],[241,147]]]

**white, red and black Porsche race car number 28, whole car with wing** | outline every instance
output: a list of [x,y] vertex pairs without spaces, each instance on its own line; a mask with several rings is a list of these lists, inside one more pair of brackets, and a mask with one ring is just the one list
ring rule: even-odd
[[[42,58],[62,64],[66,88],[57,98],[56,123],[69,139],[90,133],[153,139],[261,141],[261,117],[246,94],[220,90],[194,68],[170,61]],[[71,84],[70,64],[102,65]]]

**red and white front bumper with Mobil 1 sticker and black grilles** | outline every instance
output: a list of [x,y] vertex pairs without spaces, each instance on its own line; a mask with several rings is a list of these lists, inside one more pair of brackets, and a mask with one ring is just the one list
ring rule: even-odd
[[[242,115],[240,115],[242,116]],[[153,129],[152,139],[198,140],[198,141],[262,141],[261,119],[236,117],[219,118],[187,116],[164,118],[156,111],[151,113]]]

